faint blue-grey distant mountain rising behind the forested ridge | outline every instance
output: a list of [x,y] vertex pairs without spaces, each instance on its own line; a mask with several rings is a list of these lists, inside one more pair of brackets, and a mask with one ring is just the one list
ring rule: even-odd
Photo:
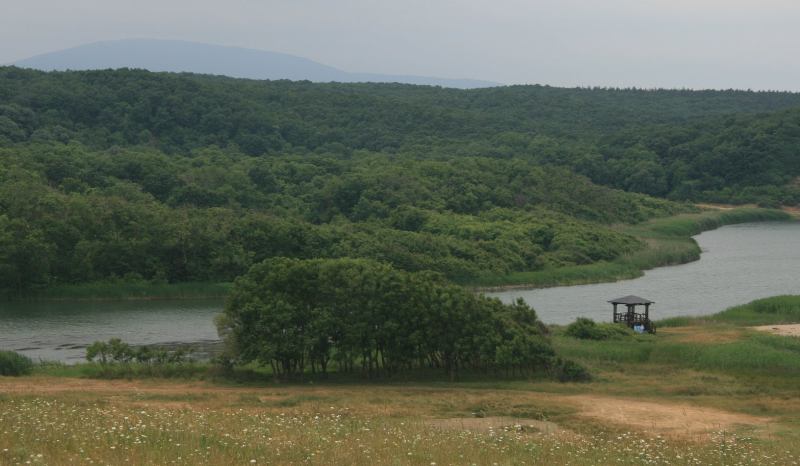
[[350,73],[285,53],[158,39],[95,42],[36,55],[13,64],[44,71],[142,68],[150,71],[186,71],[249,79],[397,82],[461,89],[499,85],[473,79]]

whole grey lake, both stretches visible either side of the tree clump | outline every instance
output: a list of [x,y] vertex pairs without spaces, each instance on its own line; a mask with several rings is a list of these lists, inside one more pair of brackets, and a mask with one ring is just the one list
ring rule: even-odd
[[[629,294],[656,302],[655,319],[711,314],[753,299],[800,293],[800,223],[732,225],[695,237],[703,255],[616,283],[487,293],[532,305],[546,323],[576,317],[610,320],[609,299]],[[35,360],[75,362],[95,340],[134,345],[217,341],[222,300],[0,302],[0,349]]]

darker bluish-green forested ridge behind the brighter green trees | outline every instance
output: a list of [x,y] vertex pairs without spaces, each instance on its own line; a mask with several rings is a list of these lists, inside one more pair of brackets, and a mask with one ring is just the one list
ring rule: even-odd
[[797,204],[800,94],[249,81],[0,68],[0,145],[533,159],[678,200]]

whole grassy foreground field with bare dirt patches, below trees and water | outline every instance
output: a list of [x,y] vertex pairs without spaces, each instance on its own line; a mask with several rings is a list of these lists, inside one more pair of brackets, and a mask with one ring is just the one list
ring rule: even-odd
[[657,335],[554,328],[589,383],[43,367],[0,378],[0,464],[798,464],[800,339],[751,326],[799,318],[800,296],[783,296]]

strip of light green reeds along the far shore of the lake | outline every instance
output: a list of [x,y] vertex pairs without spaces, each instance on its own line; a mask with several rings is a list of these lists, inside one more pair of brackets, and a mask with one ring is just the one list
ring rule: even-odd
[[[476,293],[487,293],[631,280],[641,277],[646,270],[699,260],[701,251],[693,236],[704,231],[737,223],[800,220],[798,208],[784,207],[778,210],[716,204],[696,204],[696,206],[701,209],[697,213],[655,218],[635,225],[615,226],[621,232],[640,240],[645,247],[614,261],[514,272],[483,279],[486,282],[500,282],[497,284],[481,284],[479,279],[473,284],[461,285]],[[60,285],[41,290],[39,294],[5,296],[0,300],[6,302],[223,300],[232,286],[230,282],[87,283]]]

